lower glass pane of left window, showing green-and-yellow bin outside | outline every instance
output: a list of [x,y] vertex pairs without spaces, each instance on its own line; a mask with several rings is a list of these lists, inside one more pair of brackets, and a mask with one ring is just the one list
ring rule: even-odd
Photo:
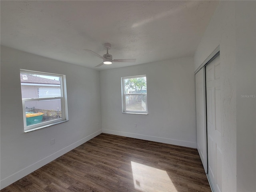
[[26,126],[62,118],[61,100],[26,101]]

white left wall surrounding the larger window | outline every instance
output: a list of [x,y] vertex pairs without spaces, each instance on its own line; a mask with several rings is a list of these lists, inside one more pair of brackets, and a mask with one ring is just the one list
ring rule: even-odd
[[[66,75],[68,122],[24,133],[20,69]],[[1,189],[101,132],[98,71],[1,46]]]

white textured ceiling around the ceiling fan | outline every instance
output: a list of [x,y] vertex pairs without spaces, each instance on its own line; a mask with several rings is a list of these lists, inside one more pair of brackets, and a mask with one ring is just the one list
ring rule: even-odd
[[0,1],[1,44],[96,70],[193,56],[218,1]]

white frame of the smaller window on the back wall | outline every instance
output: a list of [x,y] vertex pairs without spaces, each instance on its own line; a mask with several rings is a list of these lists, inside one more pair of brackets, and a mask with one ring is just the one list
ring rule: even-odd
[[[146,75],[137,75],[137,76],[128,76],[128,77],[121,77],[121,94],[122,94],[122,113],[126,114],[148,114],[148,95],[147,93],[133,93],[133,94],[126,94],[125,93],[125,86],[124,86],[124,80],[125,79],[133,79],[133,78],[140,78],[140,77],[146,77],[146,90],[148,93],[148,84],[147,84],[147,76]],[[131,95],[146,95],[146,110],[140,111],[140,110],[126,110],[126,96]]]

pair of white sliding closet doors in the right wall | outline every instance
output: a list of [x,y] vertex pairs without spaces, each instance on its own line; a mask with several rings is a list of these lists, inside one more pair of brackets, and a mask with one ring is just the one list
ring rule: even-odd
[[197,149],[214,192],[222,191],[220,55],[195,76]]

